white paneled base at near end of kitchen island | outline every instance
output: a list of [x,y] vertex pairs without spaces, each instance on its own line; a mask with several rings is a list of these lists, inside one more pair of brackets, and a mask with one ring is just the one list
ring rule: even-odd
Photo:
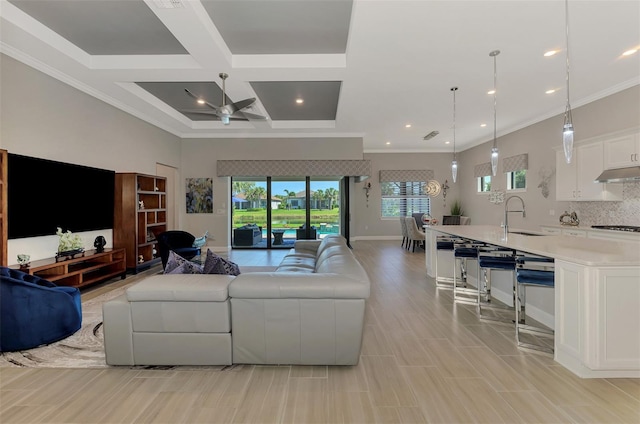
[[555,360],[585,377],[640,378],[640,271],[555,262]]

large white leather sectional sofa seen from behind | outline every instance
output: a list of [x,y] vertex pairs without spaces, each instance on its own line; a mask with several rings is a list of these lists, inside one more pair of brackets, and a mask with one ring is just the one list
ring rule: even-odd
[[274,272],[155,275],[103,306],[110,365],[355,365],[370,282],[345,240],[298,240]]

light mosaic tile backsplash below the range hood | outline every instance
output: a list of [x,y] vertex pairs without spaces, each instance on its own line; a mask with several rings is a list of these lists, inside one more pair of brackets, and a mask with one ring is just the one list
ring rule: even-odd
[[620,202],[571,202],[570,207],[578,214],[581,227],[640,226],[640,181],[624,183]]

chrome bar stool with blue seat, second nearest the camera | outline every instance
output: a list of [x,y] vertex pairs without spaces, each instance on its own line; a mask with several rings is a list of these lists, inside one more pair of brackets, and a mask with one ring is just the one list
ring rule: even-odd
[[[478,316],[480,319],[491,321],[500,321],[513,323],[513,318],[505,318],[499,315],[487,315],[483,313],[483,308],[493,309],[494,311],[514,311],[515,310],[515,270],[516,270],[516,252],[512,249],[506,249],[497,246],[483,246],[478,248]],[[482,277],[480,276],[482,272]],[[512,305],[497,305],[493,302],[491,295],[491,272],[492,271],[511,271],[513,273],[512,281]],[[484,284],[483,284],[484,283]],[[483,287],[484,286],[484,287]],[[512,315],[513,317],[513,315]]]

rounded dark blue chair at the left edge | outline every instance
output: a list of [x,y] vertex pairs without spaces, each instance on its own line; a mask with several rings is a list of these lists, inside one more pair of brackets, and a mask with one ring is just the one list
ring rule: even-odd
[[0,352],[57,342],[81,325],[80,290],[0,267]]

